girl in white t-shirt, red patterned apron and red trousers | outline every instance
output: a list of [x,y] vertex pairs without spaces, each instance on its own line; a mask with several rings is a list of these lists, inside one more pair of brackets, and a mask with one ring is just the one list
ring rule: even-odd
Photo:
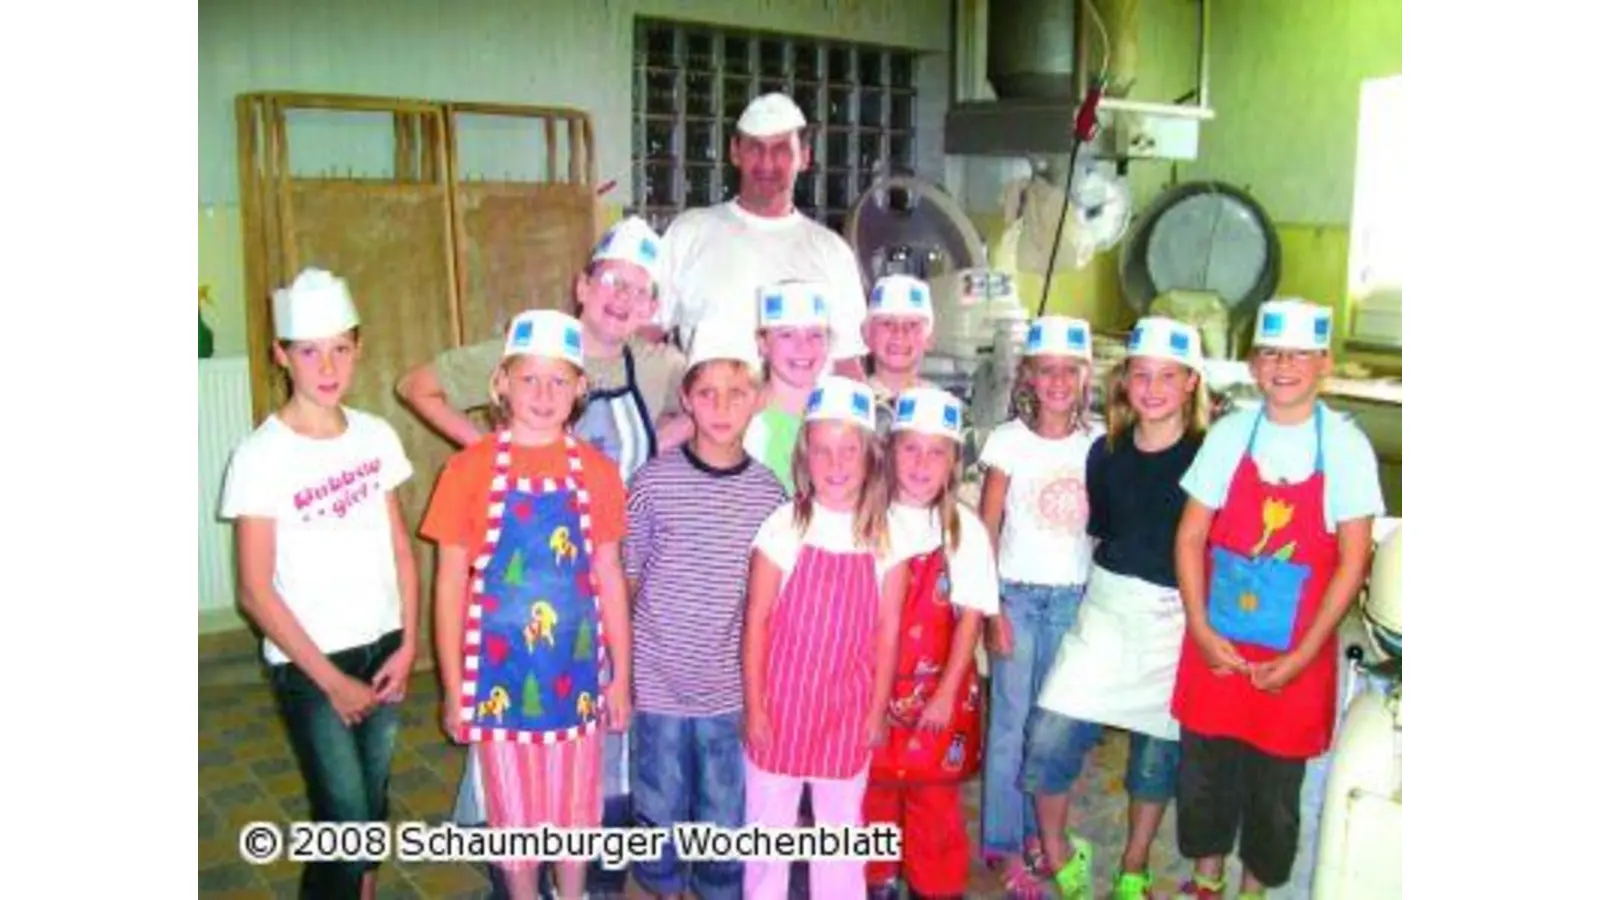
[[962,781],[981,762],[973,650],[1000,612],[1000,580],[984,522],[955,500],[962,404],[938,388],[901,392],[890,423],[890,540],[909,557],[888,740],[872,754],[869,823],[901,828],[904,865],[867,863],[869,897],[966,894]]

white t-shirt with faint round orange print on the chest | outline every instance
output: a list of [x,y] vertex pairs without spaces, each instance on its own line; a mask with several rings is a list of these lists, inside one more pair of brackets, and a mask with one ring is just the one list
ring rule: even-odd
[[1000,577],[1029,585],[1083,585],[1093,546],[1088,536],[1086,464],[1101,426],[1043,439],[1022,420],[994,429],[978,463],[1006,474],[1000,524]]

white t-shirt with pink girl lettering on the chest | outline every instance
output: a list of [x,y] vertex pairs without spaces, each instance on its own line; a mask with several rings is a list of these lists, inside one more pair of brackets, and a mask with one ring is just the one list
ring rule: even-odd
[[[224,519],[277,524],[272,586],[323,653],[402,626],[387,495],[411,477],[411,461],[387,421],[344,415],[344,434],[330,439],[267,416],[234,450],[222,487]],[[270,639],[262,655],[288,661]]]

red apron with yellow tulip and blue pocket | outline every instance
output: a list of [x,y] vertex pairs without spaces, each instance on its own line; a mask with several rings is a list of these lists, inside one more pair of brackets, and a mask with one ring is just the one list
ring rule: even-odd
[[[1206,615],[1246,661],[1277,658],[1317,618],[1333,580],[1339,541],[1323,522],[1322,404],[1317,405],[1317,466],[1299,484],[1267,484],[1254,461],[1250,429],[1245,458],[1227,500],[1211,520],[1206,552]],[[1285,759],[1310,759],[1333,738],[1338,647],[1330,637],[1317,658],[1277,693],[1243,674],[1213,674],[1200,647],[1184,637],[1173,714],[1186,729],[1232,737]]]

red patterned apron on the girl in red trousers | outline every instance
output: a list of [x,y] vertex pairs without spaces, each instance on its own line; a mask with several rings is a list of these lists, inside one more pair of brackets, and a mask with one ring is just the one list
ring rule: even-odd
[[962,610],[950,605],[950,575],[944,549],[907,562],[909,588],[901,607],[894,692],[890,697],[888,740],[872,754],[874,783],[928,785],[965,781],[982,765],[982,714],[978,708],[978,671],[966,668],[955,692],[950,724],[938,732],[917,729],[923,706],[938,690],[950,658]]

